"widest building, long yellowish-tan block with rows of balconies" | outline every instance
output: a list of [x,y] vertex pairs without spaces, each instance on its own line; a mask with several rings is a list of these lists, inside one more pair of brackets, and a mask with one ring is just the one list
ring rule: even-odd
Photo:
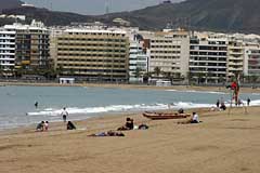
[[127,81],[129,39],[118,29],[67,29],[56,38],[56,67],[86,80]]

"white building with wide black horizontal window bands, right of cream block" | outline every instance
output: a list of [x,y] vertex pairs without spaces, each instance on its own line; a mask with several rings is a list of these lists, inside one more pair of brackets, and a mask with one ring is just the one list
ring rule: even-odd
[[194,37],[191,39],[190,76],[199,83],[226,80],[227,39]]

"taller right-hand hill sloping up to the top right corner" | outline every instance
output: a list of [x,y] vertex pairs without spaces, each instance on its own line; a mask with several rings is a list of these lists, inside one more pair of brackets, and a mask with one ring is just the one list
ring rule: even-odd
[[186,0],[101,18],[115,17],[146,29],[161,29],[170,23],[193,29],[260,34],[259,0]]

